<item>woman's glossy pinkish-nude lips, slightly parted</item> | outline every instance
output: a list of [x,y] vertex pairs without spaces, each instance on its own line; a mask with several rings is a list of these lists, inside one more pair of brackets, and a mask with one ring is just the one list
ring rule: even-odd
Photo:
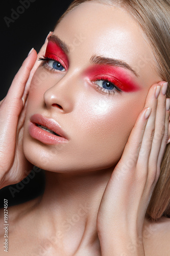
[[[61,137],[42,130],[37,124],[45,126],[47,129],[55,132]],[[31,116],[29,133],[33,138],[38,139],[45,144],[68,142],[68,136],[61,129],[61,126],[55,120],[43,117],[41,114],[34,114]]]

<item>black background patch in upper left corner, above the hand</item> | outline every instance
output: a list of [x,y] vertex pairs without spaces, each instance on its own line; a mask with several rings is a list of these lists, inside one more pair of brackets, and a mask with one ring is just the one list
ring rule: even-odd
[[34,47],[38,52],[47,34],[53,31],[58,18],[64,13],[72,0],[31,0],[28,9],[19,14],[14,22],[7,26],[4,17],[11,18],[14,9],[22,12],[18,7],[21,2],[29,0],[13,0],[1,2],[1,89],[2,100],[11,85],[12,79],[20,68],[29,51]]

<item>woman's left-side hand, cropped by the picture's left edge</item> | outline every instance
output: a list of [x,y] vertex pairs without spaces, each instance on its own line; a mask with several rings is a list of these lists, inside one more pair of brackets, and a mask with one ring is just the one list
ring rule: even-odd
[[20,182],[33,167],[23,154],[23,125],[31,79],[46,45],[47,40],[38,56],[32,50],[15,75],[6,97],[0,101],[0,188]]

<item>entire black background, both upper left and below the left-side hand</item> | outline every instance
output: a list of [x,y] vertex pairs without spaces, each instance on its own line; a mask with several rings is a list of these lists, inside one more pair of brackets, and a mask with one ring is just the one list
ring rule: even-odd
[[[59,17],[64,13],[72,0],[68,1],[42,1],[32,0],[28,8],[18,8],[23,6],[21,2],[29,0],[15,0],[1,2],[1,86],[0,100],[2,100],[10,88],[13,77],[20,68],[23,60],[29,51],[34,49],[39,52],[47,34],[53,31]],[[29,5],[29,4],[27,4]],[[13,10],[20,12],[14,22],[9,23],[9,27],[4,17],[11,18]],[[18,12],[18,11],[17,11]],[[35,173],[35,172],[33,172]],[[8,206],[25,202],[37,197],[44,189],[44,172],[35,173],[35,177],[30,179],[28,184],[20,182],[4,187],[0,191],[0,207],[4,207],[4,198],[8,199]],[[13,196],[9,190],[14,190]],[[20,188],[20,189],[18,189]]]

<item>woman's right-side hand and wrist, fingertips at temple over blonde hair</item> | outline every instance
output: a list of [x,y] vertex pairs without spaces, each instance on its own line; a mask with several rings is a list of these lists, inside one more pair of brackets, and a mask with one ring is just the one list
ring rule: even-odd
[[[162,88],[166,89],[163,83],[150,88],[144,109],[104,191],[97,217],[102,256],[145,255],[141,240],[134,254],[128,246],[142,238],[145,212],[160,175],[168,142],[169,99],[162,94]],[[155,90],[160,85],[161,91],[156,98]],[[150,110],[146,111],[147,107],[151,108],[151,114]],[[150,114],[148,119],[145,119],[146,112]]]

